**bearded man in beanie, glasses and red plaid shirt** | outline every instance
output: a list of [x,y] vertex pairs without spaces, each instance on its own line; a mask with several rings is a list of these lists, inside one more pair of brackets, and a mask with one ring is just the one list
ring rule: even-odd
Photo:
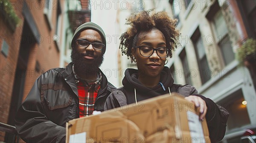
[[115,89],[99,69],[106,50],[101,27],[82,24],[71,47],[72,63],[38,77],[17,111],[15,126],[26,142],[65,142],[66,122],[103,111],[106,97]]

